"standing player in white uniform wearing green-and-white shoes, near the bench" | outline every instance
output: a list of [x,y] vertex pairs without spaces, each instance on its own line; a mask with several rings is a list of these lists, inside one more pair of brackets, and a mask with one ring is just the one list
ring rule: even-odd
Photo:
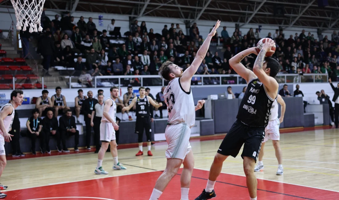
[[119,126],[116,123],[117,105],[115,104],[119,94],[119,88],[111,87],[110,91],[111,96],[104,102],[104,110],[100,123],[100,140],[102,143],[98,153],[98,164],[94,171],[96,174],[108,174],[101,166],[108,145],[111,145],[111,154],[114,162],[113,169],[126,170],[126,168],[118,161],[117,142],[115,138],[115,131],[119,130]]

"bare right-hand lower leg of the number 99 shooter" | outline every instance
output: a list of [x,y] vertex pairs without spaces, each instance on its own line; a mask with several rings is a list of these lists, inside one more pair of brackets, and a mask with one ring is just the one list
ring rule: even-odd
[[244,156],[244,172],[246,176],[246,185],[248,193],[250,193],[251,200],[257,199],[257,178],[254,175],[255,160],[251,157]]

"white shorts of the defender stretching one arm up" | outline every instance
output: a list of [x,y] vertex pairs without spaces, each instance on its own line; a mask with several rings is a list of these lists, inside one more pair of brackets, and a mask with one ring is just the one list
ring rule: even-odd
[[191,129],[185,123],[167,125],[165,137],[168,143],[166,158],[179,158],[184,160],[191,151],[190,145]]

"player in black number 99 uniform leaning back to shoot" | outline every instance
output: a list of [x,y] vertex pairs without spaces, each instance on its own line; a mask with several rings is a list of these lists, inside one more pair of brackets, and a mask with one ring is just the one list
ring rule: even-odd
[[244,160],[247,188],[250,199],[257,200],[257,179],[254,175],[254,165],[265,136],[264,131],[268,124],[269,112],[273,101],[277,99],[279,87],[274,77],[279,72],[280,65],[277,60],[265,57],[266,52],[272,52],[273,46],[274,41],[266,39],[254,63],[253,71],[247,69],[240,62],[251,53],[257,54],[256,47],[246,49],[230,59],[230,66],[246,80],[248,85],[239,107],[237,121],[221,142],[210,169],[206,188],[195,200],[216,197],[213,188],[221,172],[223,161],[228,156],[236,157],[243,144],[241,157]]

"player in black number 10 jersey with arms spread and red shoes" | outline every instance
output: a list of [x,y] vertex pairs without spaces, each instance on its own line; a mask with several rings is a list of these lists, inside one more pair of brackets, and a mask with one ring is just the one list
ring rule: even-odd
[[133,98],[131,104],[127,107],[123,107],[122,111],[128,111],[131,109],[134,105],[136,105],[136,116],[137,120],[135,122],[135,133],[138,134],[138,142],[139,142],[139,152],[136,154],[136,156],[141,156],[143,155],[143,150],[142,150],[142,137],[144,134],[144,130],[146,132],[146,137],[147,137],[147,155],[148,156],[153,156],[151,152],[151,113],[149,110],[149,104],[152,106],[158,108],[162,106],[162,103],[155,103],[150,96],[145,95],[145,88],[140,87],[139,88],[139,94],[140,96]]

